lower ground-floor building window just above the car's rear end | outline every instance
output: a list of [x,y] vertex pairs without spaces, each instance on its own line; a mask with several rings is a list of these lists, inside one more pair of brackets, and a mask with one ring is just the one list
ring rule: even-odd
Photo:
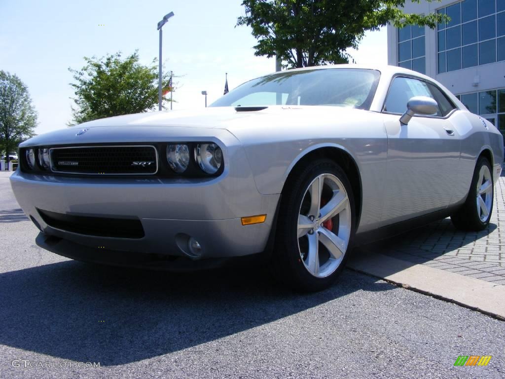
[[456,96],[468,110],[492,122],[505,135],[505,88]]

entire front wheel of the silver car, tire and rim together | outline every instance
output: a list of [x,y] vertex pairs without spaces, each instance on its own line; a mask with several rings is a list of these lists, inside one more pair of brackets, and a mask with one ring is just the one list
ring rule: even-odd
[[343,269],[354,232],[354,197],[347,176],[333,161],[312,162],[286,182],[274,272],[297,290],[323,290]]

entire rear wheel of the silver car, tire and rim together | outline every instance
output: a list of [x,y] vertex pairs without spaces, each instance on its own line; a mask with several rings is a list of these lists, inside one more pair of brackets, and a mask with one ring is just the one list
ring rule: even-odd
[[470,192],[465,204],[450,216],[461,230],[482,230],[487,227],[493,210],[494,183],[491,164],[481,157],[475,166]]

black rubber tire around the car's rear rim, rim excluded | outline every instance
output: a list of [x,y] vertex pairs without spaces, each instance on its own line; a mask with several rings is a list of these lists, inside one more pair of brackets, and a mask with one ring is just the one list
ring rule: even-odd
[[[477,187],[480,186],[479,174],[483,166],[487,166],[490,172],[491,180],[491,210],[487,215],[487,219],[484,221],[480,218],[480,210],[477,207]],[[468,193],[467,200],[461,206],[461,208],[450,216],[452,224],[460,230],[471,231],[471,230],[483,230],[489,225],[489,220],[491,219],[491,213],[493,211],[493,200],[494,200],[494,182],[493,182],[493,171],[491,164],[485,157],[480,157],[475,165],[475,170],[472,178],[472,184],[470,185],[470,191]]]

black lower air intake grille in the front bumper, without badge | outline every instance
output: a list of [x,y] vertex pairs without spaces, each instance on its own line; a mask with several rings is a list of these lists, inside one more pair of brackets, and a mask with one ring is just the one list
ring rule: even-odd
[[138,218],[76,216],[37,209],[44,222],[56,229],[99,237],[139,239],[144,236]]

